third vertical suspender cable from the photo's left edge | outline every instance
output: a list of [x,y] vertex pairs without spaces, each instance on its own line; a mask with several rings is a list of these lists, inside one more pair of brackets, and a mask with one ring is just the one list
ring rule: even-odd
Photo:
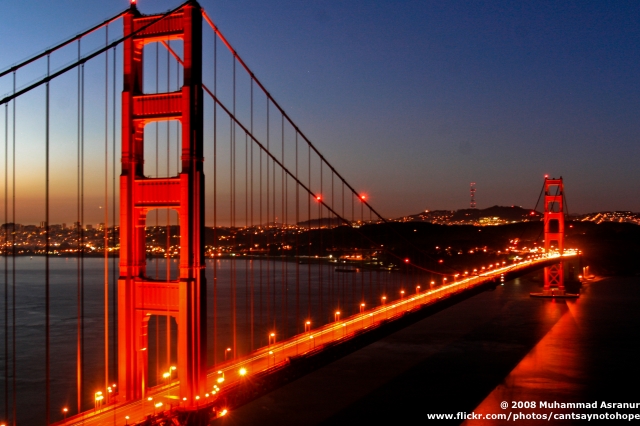
[[[50,66],[51,66],[51,57],[50,55],[47,55],[47,77],[49,77],[49,72],[50,72]],[[45,118],[45,157],[46,157],[46,165],[45,165],[45,223],[44,223],[44,232],[45,232],[45,254],[44,254],[44,261],[45,261],[45,334],[46,334],[46,338],[45,338],[45,388],[46,388],[46,404],[45,404],[45,410],[46,410],[46,419],[47,419],[47,424],[49,424],[49,412],[51,411],[51,393],[50,393],[50,386],[51,386],[51,370],[50,370],[50,355],[51,355],[51,348],[50,348],[50,340],[49,340],[49,314],[50,314],[50,293],[49,293],[49,289],[50,289],[50,282],[49,282],[49,277],[50,277],[50,270],[49,270],[49,244],[50,244],[50,237],[49,237],[49,81],[47,81],[47,84],[45,86],[45,90],[46,90],[46,118]]]

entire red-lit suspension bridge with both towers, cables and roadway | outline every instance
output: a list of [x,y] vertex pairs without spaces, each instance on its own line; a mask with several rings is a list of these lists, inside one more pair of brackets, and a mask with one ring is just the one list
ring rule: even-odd
[[442,264],[195,1],[147,16],[132,1],[0,82],[6,424],[208,424],[323,351],[513,274],[545,266],[542,295],[565,295],[562,179],[545,179],[544,251]]

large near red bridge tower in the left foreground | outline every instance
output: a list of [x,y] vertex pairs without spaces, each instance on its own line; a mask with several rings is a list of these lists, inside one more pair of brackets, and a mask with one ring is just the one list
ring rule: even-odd
[[[168,315],[178,324],[180,398],[195,405],[195,397],[205,394],[207,371],[202,10],[194,1],[159,17],[141,16],[135,4],[124,16],[124,35],[130,37],[124,42],[122,93],[118,389],[125,400],[145,396],[147,325],[151,315]],[[144,94],[143,48],[168,40],[183,42],[184,85],[172,93]],[[178,120],[182,126],[181,172],[176,177],[146,178],[144,127],[166,120]],[[145,224],[153,209],[178,212],[180,272],[175,281],[152,280],[146,274]]]

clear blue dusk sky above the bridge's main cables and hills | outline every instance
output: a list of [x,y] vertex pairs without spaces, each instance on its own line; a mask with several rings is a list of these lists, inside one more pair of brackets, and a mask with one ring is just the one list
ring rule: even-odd
[[[200,4],[383,216],[467,208],[470,182],[478,208],[532,208],[545,175],[564,178],[570,213],[640,212],[636,1]],[[2,0],[0,69],[126,7]]]

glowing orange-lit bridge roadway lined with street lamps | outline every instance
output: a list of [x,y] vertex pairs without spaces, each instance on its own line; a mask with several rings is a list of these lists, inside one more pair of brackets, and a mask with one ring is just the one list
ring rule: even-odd
[[[218,400],[220,395],[224,394],[225,389],[232,388],[234,385],[239,384],[240,381],[251,377],[252,374],[265,372],[277,366],[283,366],[289,357],[304,355],[312,351],[321,350],[323,346],[346,341],[350,337],[360,334],[363,331],[366,332],[368,329],[372,329],[382,322],[398,318],[407,311],[442,302],[454,295],[495,281],[496,278],[499,278],[502,274],[524,272],[557,262],[561,260],[561,258],[573,257],[575,255],[574,253],[568,253],[562,257],[560,255],[552,255],[549,257],[541,256],[509,266],[492,269],[480,275],[461,279],[447,285],[408,294],[402,299],[390,301],[385,305],[364,311],[361,314],[356,314],[299,334],[291,339],[265,346],[246,357],[229,361],[226,364],[220,365],[216,370],[211,371],[207,379],[207,388],[211,389],[211,392],[208,396],[202,395],[200,400],[203,405],[213,403]],[[240,374],[241,369],[246,370],[246,375]],[[218,382],[220,377],[224,377],[224,381]],[[64,421],[55,423],[55,425],[136,424],[154,413],[180,407],[181,401],[176,396],[179,388],[178,385],[179,381],[175,380],[171,385],[158,386],[150,389],[146,396],[147,399],[107,405],[70,417]],[[219,390],[216,390],[215,386],[217,386]],[[152,399],[149,400],[149,397]],[[162,402],[162,406],[156,408],[155,404],[158,402]],[[218,408],[222,409],[224,407],[221,406]]]

